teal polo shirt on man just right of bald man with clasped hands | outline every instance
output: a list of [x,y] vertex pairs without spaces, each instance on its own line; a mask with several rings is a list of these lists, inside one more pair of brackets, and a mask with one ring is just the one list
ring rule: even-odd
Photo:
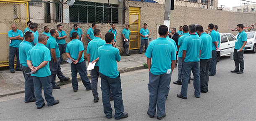
[[[56,39],[53,36],[50,36],[47,40],[47,44],[45,45],[50,51],[51,49],[55,49],[56,53],[56,58],[60,57],[60,50],[59,50],[59,45],[56,42]],[[52,53],[51,53],[51,58],[52,58]]]

